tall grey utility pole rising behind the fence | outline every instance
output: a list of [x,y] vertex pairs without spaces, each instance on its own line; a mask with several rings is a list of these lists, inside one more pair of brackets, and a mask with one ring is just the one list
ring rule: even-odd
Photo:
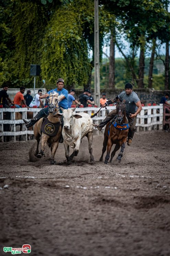
[[100,107],[99,1],[94,0],[94,100]]

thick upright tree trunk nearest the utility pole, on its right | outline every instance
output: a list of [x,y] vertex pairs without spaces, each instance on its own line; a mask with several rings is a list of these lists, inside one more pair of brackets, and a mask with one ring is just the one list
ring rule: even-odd
[[109,88],[115,87],[115,29],[110,38]]

